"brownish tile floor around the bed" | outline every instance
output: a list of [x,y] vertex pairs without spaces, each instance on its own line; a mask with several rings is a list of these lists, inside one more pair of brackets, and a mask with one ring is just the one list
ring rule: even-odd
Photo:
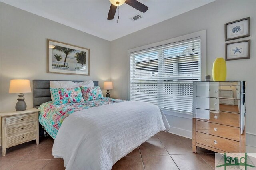
[[[64,162],[51,155],[53,140],[40,138],[6,150],[0,157],[1,170],[62,170]],[[212,170],[214,152],[198,148],[192,152],[192,140],[167,132],[159,132],[124,158],[112,170]]]

